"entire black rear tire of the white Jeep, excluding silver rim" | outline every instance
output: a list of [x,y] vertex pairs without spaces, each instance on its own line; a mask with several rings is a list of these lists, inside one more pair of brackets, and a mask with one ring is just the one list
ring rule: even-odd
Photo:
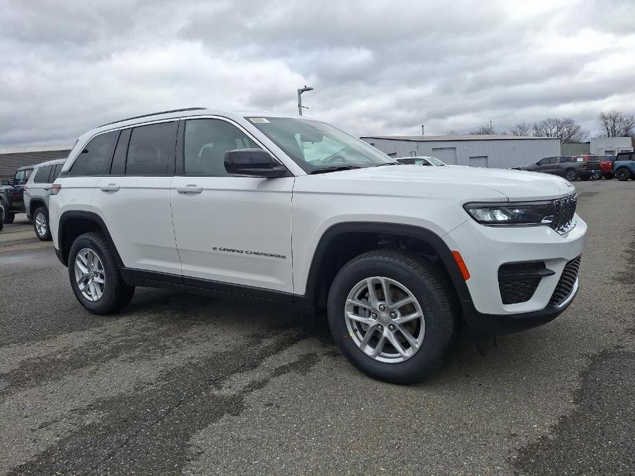
[[[104,267],[104,294],[96,301],[91,301],[84,297],[75,278],[75,260],[78,252],[83,248],[89,248],[89,250],[95,252]],[[69,252],[69,280],[77,300],[94,314],[111,314],[120,311],[128,305],[135,294],[135,287],[127,286],[124,283],[111,248],[102,234],[97,232],[84,233],[84,235],[80,235],[73,241]]]

